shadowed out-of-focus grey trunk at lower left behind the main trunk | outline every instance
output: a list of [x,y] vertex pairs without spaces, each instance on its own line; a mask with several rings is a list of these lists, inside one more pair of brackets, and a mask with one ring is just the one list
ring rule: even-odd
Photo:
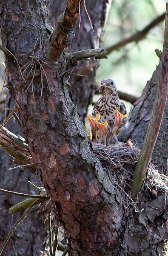
[[[6,108],[13,108],[14,100],[11,99],[11,94],[9,100],[7,101]],[[6,115],[10,112],[6,111]],[[1,118],[1,122],[3,118]],[[23,135],[22,129],[16,120],[12,118],[7,122],[6,128],[15,134]],[[12,157],[3,149],[0,148],[0,188],[9,189],[15,192],[27,193],[27,194],[36,194],[37,191],[28,184],[28,181],[35,182],[39,180],[37,175],[34,175],[31,171],[24,168],[9,170],[15,166],[15,163],[12,161]],[[41,185],[41,183],[37,183]],[[17,204],[20,201],[25,200],[16,195],[7,195],[6,193],[0,192],[0,246],[3,244],[3,241],[6,239],[6,236],[13,227],[14,223],[23,215],[24,212],[20,212],[14,215],[8,214],[8,209]],[[47,236],[46,226],[43,224],[45,216],[43,212],[37,213],[37,207],[34,207],[30,214],[19,224],[12,234],[11,239],[6,245],[4,251],[8,253],[9,256],[15,255],[41,255],[40,251],[48,250],[48,244],[43,244]],[[31,246],[30,246],[31,245]],[[14,251],[15,250],[15,251]],[[5,255],[3,253],[2,255]]]

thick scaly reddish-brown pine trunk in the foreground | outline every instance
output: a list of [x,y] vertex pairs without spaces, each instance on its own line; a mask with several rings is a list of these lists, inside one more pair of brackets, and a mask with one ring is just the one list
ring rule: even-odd
[[142,212],[134,212],[126,224],[122,222],[120,198],[86,138],[72,102],[68,74],[60,76],[76,65],[71,58],[65,63],[63,49],[71,29],[66,19],[75,24],[79,4],[79,0],[68,0],[64,19],[62,15],[55,37],[50,38],[53,31],[42,11],[46,8],[43,0],[29,1],[29,8],[27,1],[1,3],[3,46],[20,67],[28,61],[34,65],[25,71],[24,81],[16,59],[6,55],[8,86],[28,148],[59,214],[70,255],[165,255],[165,195],[144,205]]

